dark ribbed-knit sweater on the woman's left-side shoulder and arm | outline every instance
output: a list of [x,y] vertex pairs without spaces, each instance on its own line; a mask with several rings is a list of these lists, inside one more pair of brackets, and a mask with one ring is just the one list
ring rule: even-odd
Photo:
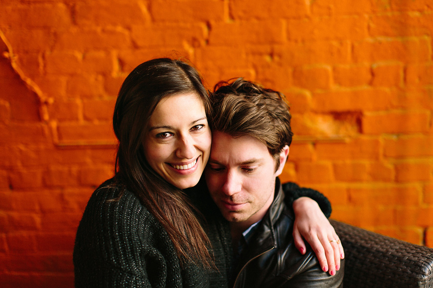
[[[110,181],[110,180],[109,180]],[[208,287],[194,264],[181,268],[165,229],[130,191],[103,183],[79,223],[73,254],[75,287]]]

